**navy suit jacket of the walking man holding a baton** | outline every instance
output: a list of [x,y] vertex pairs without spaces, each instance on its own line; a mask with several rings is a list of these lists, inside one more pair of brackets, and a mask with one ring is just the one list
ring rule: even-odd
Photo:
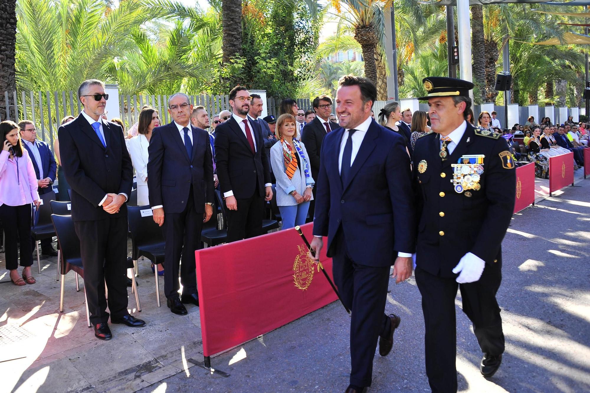
[[330,257],[341,229],[355,263],[391,266],[398,251],[415,251],[414,192],[404,138],[372,120],[348,183],[342,184],[338,158],[344,132],[337,128],[322,143],[313,234],[328,237]]

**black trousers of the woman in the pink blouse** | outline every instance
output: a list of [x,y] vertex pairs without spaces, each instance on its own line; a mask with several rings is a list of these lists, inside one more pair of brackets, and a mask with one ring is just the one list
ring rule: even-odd
[[4,228],[4,256],[6,269],[18,267],[18,239],[21,241],[21,266],[33,264],[31,249],[31,204],[0,206],[0,220]]

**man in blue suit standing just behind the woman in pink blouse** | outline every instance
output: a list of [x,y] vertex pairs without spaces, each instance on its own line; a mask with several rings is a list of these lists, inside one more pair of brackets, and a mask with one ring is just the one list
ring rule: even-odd
[[[31,122],[31,120],[22,120],[18,123],[18,126],[21,129],[25,149],[28,150],[35,168],[39,195],[47,194],[47,192],[53,191],[51,185],[55,181],[55,174],[57,173],[57,164],[53,153],[47,143],[37,140],[35,123]],[[51,246],[51,238],[41,240],[41,253],[46,256],[57,257],[57,251]]]

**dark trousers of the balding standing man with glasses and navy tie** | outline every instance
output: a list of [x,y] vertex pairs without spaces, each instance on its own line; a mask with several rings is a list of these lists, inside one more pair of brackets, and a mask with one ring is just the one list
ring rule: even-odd
[[[195,250],[201,248],[203,214],[195,211],[195,199],[189,191],[186,207],[182,213],[166,213],[163,234],[164,249],[164,294],[178,295],[178,271],[181,273],[182,294],[196,293]],[[182,263],[181,263],[182,256]],[[180,265],[180,267],[179,267]]]

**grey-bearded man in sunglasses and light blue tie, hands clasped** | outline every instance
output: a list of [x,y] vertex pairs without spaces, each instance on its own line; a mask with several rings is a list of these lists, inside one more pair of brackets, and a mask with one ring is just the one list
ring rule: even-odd
[[80,239],[90,322],[97,338],[109,340],[105,281],[111,322],[145,325],[127,312],[126,202],[133,165],[121,126],[101,118],[109,99],[104,83],[83,81],[78,97],[84,110],[58,129],[61,165],[71,187],[72,220]]

